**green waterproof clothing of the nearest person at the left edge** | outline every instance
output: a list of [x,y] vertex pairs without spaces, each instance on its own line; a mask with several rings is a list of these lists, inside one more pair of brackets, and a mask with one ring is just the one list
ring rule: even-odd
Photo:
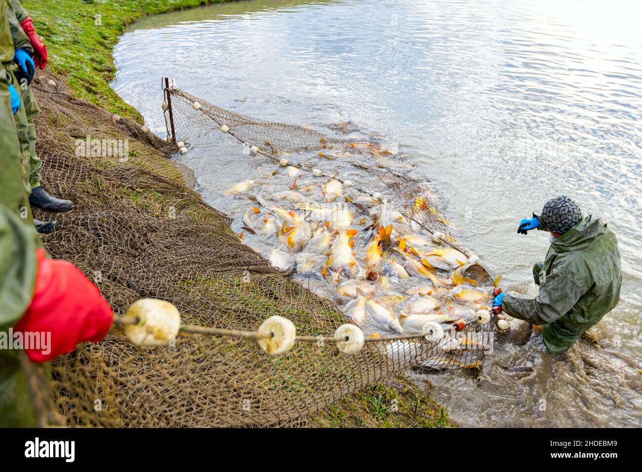
[[[0,0],[0,62],[13,58],[10,8]],[[40,238],[22,186],[22,166],[10,106],[11,76],[0,66],[0,336],[8,337],[33,297]],[[15,349],[0,349],[0,427],[37,426],[37,415]]]

